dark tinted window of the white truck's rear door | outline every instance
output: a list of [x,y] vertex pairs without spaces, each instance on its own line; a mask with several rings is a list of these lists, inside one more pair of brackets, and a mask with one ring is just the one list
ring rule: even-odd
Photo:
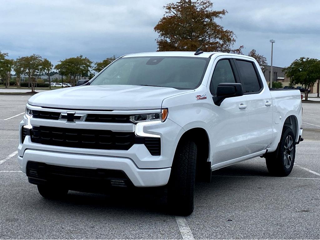
[[236,60],[244,93],[259,92],[260,84],[252,62]]

